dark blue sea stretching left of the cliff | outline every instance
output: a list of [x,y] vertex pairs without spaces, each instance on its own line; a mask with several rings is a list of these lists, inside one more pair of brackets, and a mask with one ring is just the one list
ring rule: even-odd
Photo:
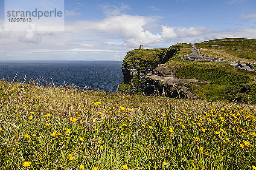
[[26,75],[40,85],[75,85],[77,88],[115,92],[122,82],[122,61],[0,61],[0,79],[21,82]]

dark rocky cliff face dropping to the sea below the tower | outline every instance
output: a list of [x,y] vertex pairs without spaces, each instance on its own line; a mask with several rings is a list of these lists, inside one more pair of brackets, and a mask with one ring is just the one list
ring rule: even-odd
[[148,96],[168,96],[173,98],[194,97],[187,88],[177,84],[152,79],[148,74],[161,77],[175,77],[177,70],[169,70],[165,62],[177,52],[176,48],[144,49],[129,51],[122,61],[123,79],[119,92],[145,94]]

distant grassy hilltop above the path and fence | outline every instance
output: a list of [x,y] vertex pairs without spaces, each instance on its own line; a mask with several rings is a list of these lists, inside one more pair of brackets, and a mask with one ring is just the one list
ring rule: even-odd
[[204,48],[200,49],[201,54],[209,57],[245,62],[256,61],[256,40],[254,39],[216,39],[197,43],[196,47]]

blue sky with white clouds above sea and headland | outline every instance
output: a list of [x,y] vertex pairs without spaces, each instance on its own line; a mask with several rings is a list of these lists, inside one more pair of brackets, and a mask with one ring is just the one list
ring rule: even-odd
[[139,45],[256,39],[255,6],[256,0],[64,0],[64,31],[5,31],[0,0],[0,60],[122,60]]

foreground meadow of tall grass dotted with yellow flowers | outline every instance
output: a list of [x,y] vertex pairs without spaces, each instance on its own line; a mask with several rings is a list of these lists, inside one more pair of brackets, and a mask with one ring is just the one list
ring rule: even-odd
[[0,167],[252,169],[255,109],[0,81]]

